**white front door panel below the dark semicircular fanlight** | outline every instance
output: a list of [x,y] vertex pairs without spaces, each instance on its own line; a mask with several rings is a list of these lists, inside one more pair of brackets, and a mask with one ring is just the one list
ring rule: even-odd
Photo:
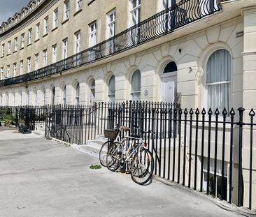
[[166,73],[162,77],[162,101],[165,103],[174,103],[177,93],[177,76],[168,76],[168,74]]

